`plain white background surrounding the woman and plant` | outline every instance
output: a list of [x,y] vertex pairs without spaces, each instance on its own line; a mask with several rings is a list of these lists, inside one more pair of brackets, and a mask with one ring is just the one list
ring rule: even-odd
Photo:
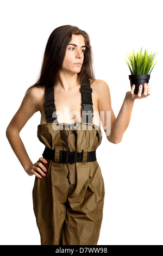
[[[40,245],[33,212],[35,176],[28,176],[5,130],[39,75],[51,32],[62,25],[86,31],[96,79],[108,83],[117,117],[130,91],[126,54],[142,47],[158,52],[151,95],[135,100],[129,126],[118,144],[102,128],[97,161],[105,184],[98,245],[162,245],[162,1],[1,1],[1,245]],[[36,162],[44,145],[37,138],[40,112],[20,132]]]

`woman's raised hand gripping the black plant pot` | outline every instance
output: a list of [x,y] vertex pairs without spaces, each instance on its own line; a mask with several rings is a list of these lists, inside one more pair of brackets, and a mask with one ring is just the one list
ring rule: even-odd
[[[142,93],[142,88],[144,88],[143,93]],[[151,94],[151,86],[149,83],[145,83],[144,87],[142,86],[142,84],[140,84],[137,94],[134,93],[134,89],[135,89],[135,85],[133,84],[133,86],[131,87],[131,92],[126,93],[127,99],[129,100],[142,99]]]

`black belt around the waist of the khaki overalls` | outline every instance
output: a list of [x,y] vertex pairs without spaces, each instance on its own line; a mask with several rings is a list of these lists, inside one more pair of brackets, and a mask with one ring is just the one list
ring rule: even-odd
[[[45,147],[45,150],[43,151],[42,156],[54,161],[55,149],[49,149]],[[83,152],[68,151],[68,162],[76,163],[76,162],[82,162],[82,160],[83,160]],[[87,152],[86,162],[92,162],[92,161],[96,161],[96,150]],[[66,150],[60,150],[59,162],[66,163]]]

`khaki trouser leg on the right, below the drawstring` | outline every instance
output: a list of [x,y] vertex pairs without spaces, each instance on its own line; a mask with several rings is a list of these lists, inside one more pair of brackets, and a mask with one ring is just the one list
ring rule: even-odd
[[[94,167],[90,176],[82,189],[78,182],[78,187],[68,197],[62,245],[97,245],[103,218],[104,181],[99,167]],[[79,173],[78,178],[82,179]]]

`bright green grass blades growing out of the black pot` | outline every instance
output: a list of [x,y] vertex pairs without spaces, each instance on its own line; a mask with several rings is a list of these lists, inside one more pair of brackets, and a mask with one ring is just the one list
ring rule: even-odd
[[[152,54],[151,52],[150,54],[148,54],[148,51],[146,51],[146,49],[144,54],[142,54],[142,47],[141,47],[141,51],[140,52],[137,51],[136,55],[134,53],[134,50],[131,54],[128,53],[127,54],[128,59],[126,59],[125,61],[129,66],[131,75],[151,74],[151,71],[153,70],[154,65],[157,62],[156,60],[155,64],[153,65],[155,56],[156,56],[156,53]],[[153,68],[152,68],[152,65],[153,65]]]

